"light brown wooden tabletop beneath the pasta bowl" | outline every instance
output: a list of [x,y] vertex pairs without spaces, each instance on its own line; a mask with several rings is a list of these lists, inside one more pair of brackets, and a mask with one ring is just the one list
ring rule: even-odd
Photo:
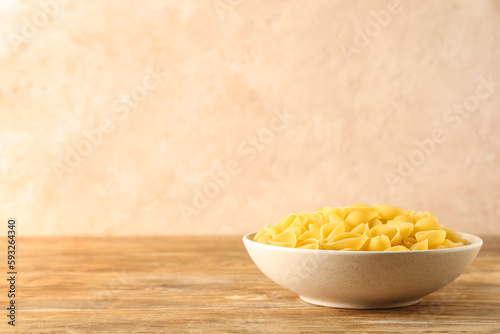
[[500,237],[484,240],[469,270],[420,304],[358,311],[302,302],[257,269],[240,237],[20,238],[15,330],[498,334]]

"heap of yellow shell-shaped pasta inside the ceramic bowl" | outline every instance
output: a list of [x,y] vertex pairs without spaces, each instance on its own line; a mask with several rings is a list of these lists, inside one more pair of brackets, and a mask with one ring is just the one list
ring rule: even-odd
[[292,213],[275,226],[266,225],[254,241],[306,249],[343,251],[409,251],[453,248],[467,240],[443,228],[430,212],[387,204],[324,207]]

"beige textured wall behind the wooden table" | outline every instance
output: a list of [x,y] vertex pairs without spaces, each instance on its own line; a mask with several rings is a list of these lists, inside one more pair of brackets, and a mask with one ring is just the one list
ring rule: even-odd
[[499,233],[500,1],[5,0],[0,124],[24,235],[357,202]]

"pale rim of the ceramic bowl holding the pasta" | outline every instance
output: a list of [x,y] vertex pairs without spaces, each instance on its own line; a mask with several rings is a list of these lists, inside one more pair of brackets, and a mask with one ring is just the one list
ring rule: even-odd
[[[457,233],[461,234],[464,239],[470,242],[470,244],[465,245],[465,246],[460,246],[460,247],[454,247],[454,248],[443,248],[443,249],[428,249],[428,250],[417,250],[417,251],[395,251],[395,252],[386,252],[386,251],[342,251],[342,250],[332,250],[332,249],[304,249],[304,248],[290,248],[290,247],[281,247],[281,246],[274,246],[274,245],[267,245],[267,244],[261,244],[259,242],[253,241],[250,237],[257,234],[258,232],[251,232],[247,233],[243,236],[243,243],[250,244],[254,247],[261,247],[264,249],[268,250],[275,250],[275,251],[284,251],[284,252],[308,252],[309,254],[312,253],[321,253],[321,254],[346,254],[346,256],[350,255],[361,255],[361,254],[422,254],[422,253],[437,253],[437,252],[461,252],[461,251],[466,251],[469,249],[475,249],[475,248],[481,248],[483,245],[483,239],[481,237],[478,237],[477,235],[471,234],[471,233],[466,233],[466,232],[459,232],[456,231]],[[472,240],[471,240],[472,239]],[[319,251],[319,252],[318,252]],[[393,255],[388,255],[388,256],[393,256]]]

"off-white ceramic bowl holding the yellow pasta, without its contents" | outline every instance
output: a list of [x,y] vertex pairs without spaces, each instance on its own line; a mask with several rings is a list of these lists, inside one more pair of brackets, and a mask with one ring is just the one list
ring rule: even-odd
[[381,309],[418,303],[460,276],[483,241],[461,233],[470,244],[410,252],[335,251],[286,248],[243,237],[262,272],[302,300],[321,306]]

